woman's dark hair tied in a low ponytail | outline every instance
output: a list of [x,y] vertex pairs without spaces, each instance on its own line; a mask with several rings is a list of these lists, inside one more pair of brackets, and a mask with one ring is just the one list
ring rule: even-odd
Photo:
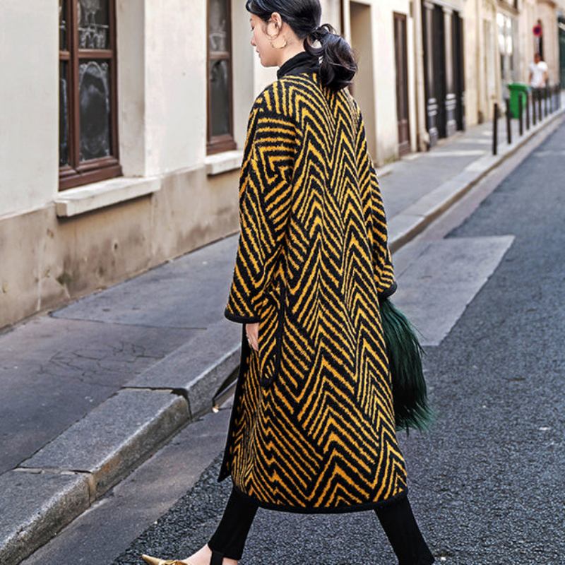
[[[321,57],[323,85],[340,90],[351,84],[357,73],[357,61],[350,44],[335,32],[332,25],[319,25],[320,0],[246,0],[245,9],[264,21],[268,21],[273,12],[280,13],[299,39],[304,40],[304,49]],[[310,40],[318,40],[321,47],[314,47]]]

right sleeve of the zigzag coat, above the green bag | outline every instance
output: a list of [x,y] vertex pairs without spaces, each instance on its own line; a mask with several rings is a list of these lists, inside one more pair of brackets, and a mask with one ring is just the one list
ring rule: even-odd
[[357,119],[357,138],[355,152],[359,189],[362,194],[368,194],[369,202],[369,233],[371,236],[371,255],[373,270],[376,277],[376,288],[380,298],[388,297],[396,291],[397,283],[394,277],[393,258],[388,248],[388,227],[379,179],[373,160],[367,148],[367,132],[365,131],[361,109],[355,102]]

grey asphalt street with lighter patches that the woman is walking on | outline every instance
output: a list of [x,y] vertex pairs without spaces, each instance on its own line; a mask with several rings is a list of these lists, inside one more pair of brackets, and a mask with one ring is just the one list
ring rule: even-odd
[[[463,222],[465,199],[395,256],[395,301],[428,344],[424,363],[439,415],[427,434],[400,433],[412,507],[438,563],[565,563],[564,156],[561,124]],[[461,253],[467,268],[454,273]],[[439,262],[430,266],[432,256]],[[114,489],[24,563],[109,562],[97,557],[108,554],[109,530],[131,535],[129,519],[160,504],[145,493],[180,493],[184,480],[194,487],[113,563],[138,564],[142,552],[184,558],[201,547],[230,491],[229,479],[216,482],[227,405],[186,427],[120,485],[121,494]],[[203,450],[217,455],[195,474]],[[242,564],[284,562],[396,561],[374,513],[259,509]]]

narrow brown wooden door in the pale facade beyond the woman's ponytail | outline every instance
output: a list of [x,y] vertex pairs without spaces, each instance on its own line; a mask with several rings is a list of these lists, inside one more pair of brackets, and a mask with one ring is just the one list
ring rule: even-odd
[[406,16],[394,13],[394,54],[396,59],[396,116],[398,120],[398,155],[410,153],[408,116],[408,46]]

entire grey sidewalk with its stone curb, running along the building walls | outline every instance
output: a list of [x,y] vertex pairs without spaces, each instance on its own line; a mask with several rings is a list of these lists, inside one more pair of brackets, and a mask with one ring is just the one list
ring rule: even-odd
[[[564,115],[562,104],[521,138],[513,124],[512,145],[501,119],[497,156],[486,123],[378,168],[393,251]],[[229,396],[236,249],[237,234],[0,335],[1,563],[16,565]]]

